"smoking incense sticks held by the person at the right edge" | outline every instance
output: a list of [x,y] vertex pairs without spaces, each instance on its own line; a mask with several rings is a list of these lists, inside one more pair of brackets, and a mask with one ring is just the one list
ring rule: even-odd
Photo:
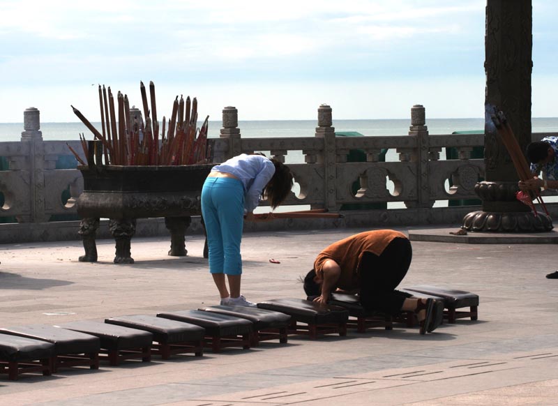
[[[513,134],[513,130],[511,129],[508,120],[504,115],[504,112],[498,111],[496,107],[492,105],[488,105],[486,109],[487,109],[487,114],[490,114],[490,119],[492,120],[492,123],[494,123],[494,125],[496,126],[497,133],[500,139],[502,140],[502,143],[508,150],[508,154],[511,158],[513,166],[515,167],[515,170],[518,172],[519,180],[527,181],[529,179],[532,179],[533,174],[531,173],[531,168],[529,167],[529,164],[527,163],[527,160],[523,155],[518,140],[515,138],[515,135]],[[543,202],[543,197],[541,197],[541,193],[539,193],[538,190],[533,191],[532,194],[529,193],[529,197],[530,197],[529,202],[526,202],[525,195],[523,193],[518,193],[517,197],[518,200],[520,200],[520,202],[526,203],[528,206],[531,207],[535,216],[537,215],[537,213],[536,213],[535,206],[532,204],[532,200],[536,198],[536,200],[538,200],[538,202],[541,203],[541,205],[543,206],[546,215],[549,216],[548,210],[546,209],[546,205]]]

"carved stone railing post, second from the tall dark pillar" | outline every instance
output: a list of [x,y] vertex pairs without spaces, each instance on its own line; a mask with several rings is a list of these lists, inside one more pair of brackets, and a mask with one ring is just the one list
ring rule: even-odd
[[324,164],[324,208],[335,211],[337,206],[337,173],[335,170],[335,128],[331,116],[329,105],[318,107],[318,126],[316,127],[316,137],[324,138],[324,151],[317,156],[317,162]]

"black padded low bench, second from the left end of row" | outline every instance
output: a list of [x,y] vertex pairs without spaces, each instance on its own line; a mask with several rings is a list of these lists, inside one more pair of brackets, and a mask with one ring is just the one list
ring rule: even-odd
[[6,327],[0,329],[0,333],[54,344],[52,373],[60,367],[89,366],[99,369],[100,343],[95,336],[47,324]]

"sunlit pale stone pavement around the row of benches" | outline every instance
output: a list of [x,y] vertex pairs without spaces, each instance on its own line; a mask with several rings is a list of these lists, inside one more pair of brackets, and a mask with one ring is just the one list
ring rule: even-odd
[[[243,239],[243,294],[251,301],[303,297],[299,276],[327,244],[361,232],[250,232]],[[409,230],[402,230],[407,232]],[[218,302],[202,257],[168,257],[164,238],[134,239],[135,264],[116,265],[114,242],[82,264],[79,242],[0,248],[0,325],[59,324],[155,315]],[[0,376],[0,405],[557,405],[558,280],[552,243],[412,241],[402,286],[428,284],[478,294],[479,319],[432,334],[396,325],[346,338],[289,336],[287,345],[209,351],[202,358],[63,369],[51,377]],[[273,258],[280,264],[273,264]]]

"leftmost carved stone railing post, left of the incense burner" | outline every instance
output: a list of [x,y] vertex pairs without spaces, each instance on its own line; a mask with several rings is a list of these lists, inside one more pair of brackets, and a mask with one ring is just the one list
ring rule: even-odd
[[[48,221],[45,214],[45,145],[43,133],[40,132],[40,112],[35,107],[29,107],[23,113],[22,142],[29,142],[29,157],[27,170],[29,171],[29,198],[31,211],[27,216],[18,216],[20,223],[41,223]],[[24,169],[22,167],[22,169]]]

